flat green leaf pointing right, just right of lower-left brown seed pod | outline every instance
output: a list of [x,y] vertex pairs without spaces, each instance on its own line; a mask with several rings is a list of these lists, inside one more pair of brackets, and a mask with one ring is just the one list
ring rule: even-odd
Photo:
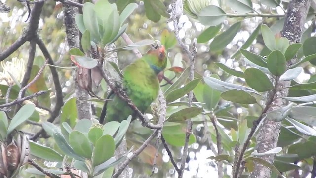
[[38,158],[41,158],[46,161],[52,161],[52,162],[62,162],[63,156],[60,155],[58,152],[53,150],[50,147],[41,145],[39,143],[29,141],[30,143],[30,153],[33,156],[36,156]]

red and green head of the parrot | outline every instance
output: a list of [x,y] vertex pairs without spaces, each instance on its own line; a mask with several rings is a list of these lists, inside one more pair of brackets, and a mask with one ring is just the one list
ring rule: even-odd
[[146,61],[156,74],[163,71],[167,66],[167,54],[163,45],[157,43],[151,45],[151,49],[147,52]]

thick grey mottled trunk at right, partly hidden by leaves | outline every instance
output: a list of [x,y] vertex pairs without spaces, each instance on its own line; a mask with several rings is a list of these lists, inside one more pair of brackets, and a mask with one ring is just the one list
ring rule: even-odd
[[[300,42],[304,29],[304,23],[308,10],[311,6],[311,0],[290,0],[288,5],[285,23],[282,30],[282,36],[289,39],[291,43]],[[288,66],[295,63],[295,60],[288,62]],[[290,81],[279,81],[278,89],[290,86]],[[276,92],[275,97],[287,96],[288,89],[283,89],[280,92]],[[278,109],[286,105],[282,99],[276,99],[272,103],[273,107],[270,107],[268,111]],[[281,123],[265,120],[263,125],[259,129],[257,137],[256,151],[258,153],[266,152],[276,147]],[[261,157],[269,163],[274,162],[274,154],[269,154]],[[250,174],[250,178],[270,178],[271,171],[269,168],[256,164],[254,171]]]

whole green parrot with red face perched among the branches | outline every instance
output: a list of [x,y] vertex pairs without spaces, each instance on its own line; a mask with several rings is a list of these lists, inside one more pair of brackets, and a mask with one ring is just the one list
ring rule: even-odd
[[[163,45],[151,45],[151,49],[142,58],[137,59],[123,70],[123,89],[135,106],[144,113],[150,104],[158,97],[158,73],[167,65],[166,51]],[[121,122],[136,113],[128,106],[127,102],[118,97],[113,91],[108,94],[110,101],[105,101],[100,124],[110,121]]]

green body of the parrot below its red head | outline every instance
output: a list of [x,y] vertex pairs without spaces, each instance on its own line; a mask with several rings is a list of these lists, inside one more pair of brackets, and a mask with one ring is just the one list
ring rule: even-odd
[[[147,62],[137,60],[126,67],[123,76],[123,89],[135,106],[144,113],[158,96],[157,74]],[[109,99],[112,101],[107,104],[106,122],[121,122],[126,120],[129,115],[134,114],[128,104],[116,94],[112,94]]]

